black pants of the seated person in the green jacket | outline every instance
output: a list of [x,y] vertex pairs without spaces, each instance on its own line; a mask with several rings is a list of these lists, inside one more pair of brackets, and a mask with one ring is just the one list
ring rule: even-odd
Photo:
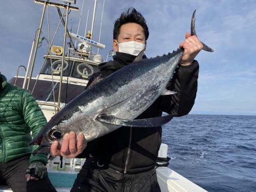
[[48,176],[42,180],[27,182],[25,174],[30,165],[29,156],[0,164],[0,183],[8,185],[14,192],[56,192]]

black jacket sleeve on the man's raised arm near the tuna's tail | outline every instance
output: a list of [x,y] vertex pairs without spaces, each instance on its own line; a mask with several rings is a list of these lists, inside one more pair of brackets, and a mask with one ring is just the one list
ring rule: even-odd
[[199,64],[196,60],[188,66],[179,65],[167,86],[168,90],[175,91],[176,94],[161,96],[161,107],[164,112],[183,116],[191,111],[196,99],[198,75]]

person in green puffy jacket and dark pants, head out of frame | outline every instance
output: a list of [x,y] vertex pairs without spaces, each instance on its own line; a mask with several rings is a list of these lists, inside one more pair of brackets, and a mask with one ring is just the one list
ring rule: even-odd
[[34,97],[0,73],[0,184],[14,192],[56,191],[47,176],[47,156],[31,155],[37,146],[29,145],[46,123]]

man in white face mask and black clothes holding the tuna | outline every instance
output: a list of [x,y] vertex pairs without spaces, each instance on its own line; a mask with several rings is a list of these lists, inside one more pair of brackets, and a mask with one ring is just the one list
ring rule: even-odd
[[[110,74],[137,61],[146,48],[148,35],[146,20],[140,12],[134,8],[122,12],[114,22],[113,49],[116,55],[113,61],[100,66],[100,72],[93,74],[88,89],[93,89],[94,85]],[[179,47],[184,52],[181,52],[182,58],[178,67],[175,67],[176,73],[167,84],[167,89],[135,118],[138,120],[135,124],[146,123],[146,119],[151,119],[151,123],[160,122],[162,112],[182,116],[191,111],[199,74],[199,64],[194,59],[203,44],[196,35],[187,33]],[[143,60],[146,62],[149,59]],[[108,122],[110,116],[106,116]],[[120,119],[114,117],[114,120]],[[161,144],[161,123],[146,128],[132,126],[133,123],[133,120],[129,122],[121,119],[121,123],[117,124],[124,126],[89,142],[86,142],[83,133],[79,133],[76,138],[75,132],[69,132],[63,136],[61,146],[58,141],[52,143],[52,156],[86,157],[71,191],[160,191],[155,162]]]

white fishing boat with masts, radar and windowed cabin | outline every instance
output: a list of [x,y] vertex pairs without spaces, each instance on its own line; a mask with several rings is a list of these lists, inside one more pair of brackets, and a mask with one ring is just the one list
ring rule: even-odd
[[[67,27],[69,14],[66,13],[79,10],[79,8],[76,7],[76,0],[59,0],[59,2],[53,0],[35,0],[35,3],[43,5],[43,11],[39,28],[36,30],[36,38],[32,41],[28,64],[27,66],[18,66],[16,76],[11,78],[9,83],[30,91],[40,108],[42,108],[47,120],[51,119],[51,117],[67,105],[68,102],[84,91],[90,76],[98,72],[98,66],[104,62],[103,57],[98,54],[98,51],[97,53],[92,51],[93,48],[98,50],[105,48],[105,45],[100,43],[100,37],[98,41],[93,40],[94,19],[98,1],[99,0],[94,0],[93,3],[92,27],[90,30],[85,29],[84,35],[80,35],[78,33],[79,30],[77,30],[77,34],[73,34]],[[104,7],[104,1],[102,7]],[[82,3],[82,6],[83,5],[84,2]],[[59,25],[52,39],[50,37],[41,37],[43,20],[48,7],[57,7],[57,12],[60,17]],[[61,9],[64,12],[61,12]],[[103,10],[102,8],[101,20]],[[64,26],[62,46],[55,44],[55,36],[61,23]],[[43,56],[43,64],[39,74],[36,77],[32,77],[37,51],[43,40],[47,40],[48,43],[47,53]],[[68,43],[67,40],[69,41]],[[78,41],[78,45],[73,43],[73,41]],[[69,46],[67,46],[67,44]],[[106,60],[108,60],[112,51],[110,50],[108,53]],[[26,70],[24,76],[19,76],[21,67]],[[161,190],[163,192],[206,191],[176,173],[174,170],[168,168],[170,158],[167,157],[167,148],[168,146],[166,144],[161,145],[158,164],[156,165]],[[85,159],[81,158],[64,158],[60,160],[59,157],[48,161],[48,175],[57,191],[70,191],[76,174],[79,173],[84,162]],[[7,186],[0,186],[0,191],[9,192],[11,189]]]

